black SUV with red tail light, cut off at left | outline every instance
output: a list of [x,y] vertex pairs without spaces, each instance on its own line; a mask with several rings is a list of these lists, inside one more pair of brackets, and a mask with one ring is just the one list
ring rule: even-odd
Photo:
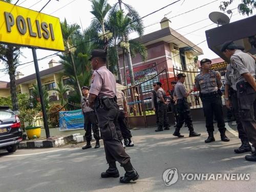
[[0,148],[13,153],[22,141],[22,129],[17,115],[9,106],[0,106]]

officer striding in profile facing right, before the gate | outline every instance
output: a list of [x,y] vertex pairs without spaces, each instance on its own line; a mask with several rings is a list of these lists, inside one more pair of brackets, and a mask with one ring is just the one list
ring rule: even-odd
[[186,122],[188,130],[189,130],[189,137],[197,137],[200,136],[200,133],[196,133],[194,131],[194,127],[192,124],[192,118],[190,114],[189,104],[187,102],[187,97],[193,90],[189,92],[186,91],[183,83],[185,82],[186,75],[183,73],[179,73],[177,75],[178,82],[175,86],[174,97],[176,98],[175,102],[177,102],[177,111],[178,111],[178,123],[176,125],[176,129],[174,132],[174,136],[176,137],[184,137],[184,135],[180,134],[180,129],[184,122]]

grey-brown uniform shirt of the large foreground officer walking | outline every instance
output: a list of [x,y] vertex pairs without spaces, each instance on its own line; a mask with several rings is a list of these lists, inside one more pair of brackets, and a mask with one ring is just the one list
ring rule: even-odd
[[89,93],[97,95],[99,98],[103,96],[113,98],[116,96],[116,79],[106,69],[106,66],[102,66],[93,72]]

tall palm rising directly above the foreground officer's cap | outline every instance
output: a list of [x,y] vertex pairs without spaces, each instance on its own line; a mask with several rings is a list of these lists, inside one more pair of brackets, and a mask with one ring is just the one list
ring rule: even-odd
[[[105,32],[105,16],[108,14],[109,10],[111,9],[110,4],[108,4],[107,0],[90,0],[92,2],[92,11],[90,11],[95,18],[98,20],[98,22],[101,25],[101,31],[103,35],[103,42],[104,42],[104,48],[106,51],[108,51],[108,36],[106,36]],[[107,67],[109,68],[109,63],[106,63]]]

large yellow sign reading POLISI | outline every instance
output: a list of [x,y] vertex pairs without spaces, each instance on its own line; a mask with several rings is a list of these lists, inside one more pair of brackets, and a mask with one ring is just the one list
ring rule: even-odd
[[63,51],[59,18],[0,1],[0,43]]

